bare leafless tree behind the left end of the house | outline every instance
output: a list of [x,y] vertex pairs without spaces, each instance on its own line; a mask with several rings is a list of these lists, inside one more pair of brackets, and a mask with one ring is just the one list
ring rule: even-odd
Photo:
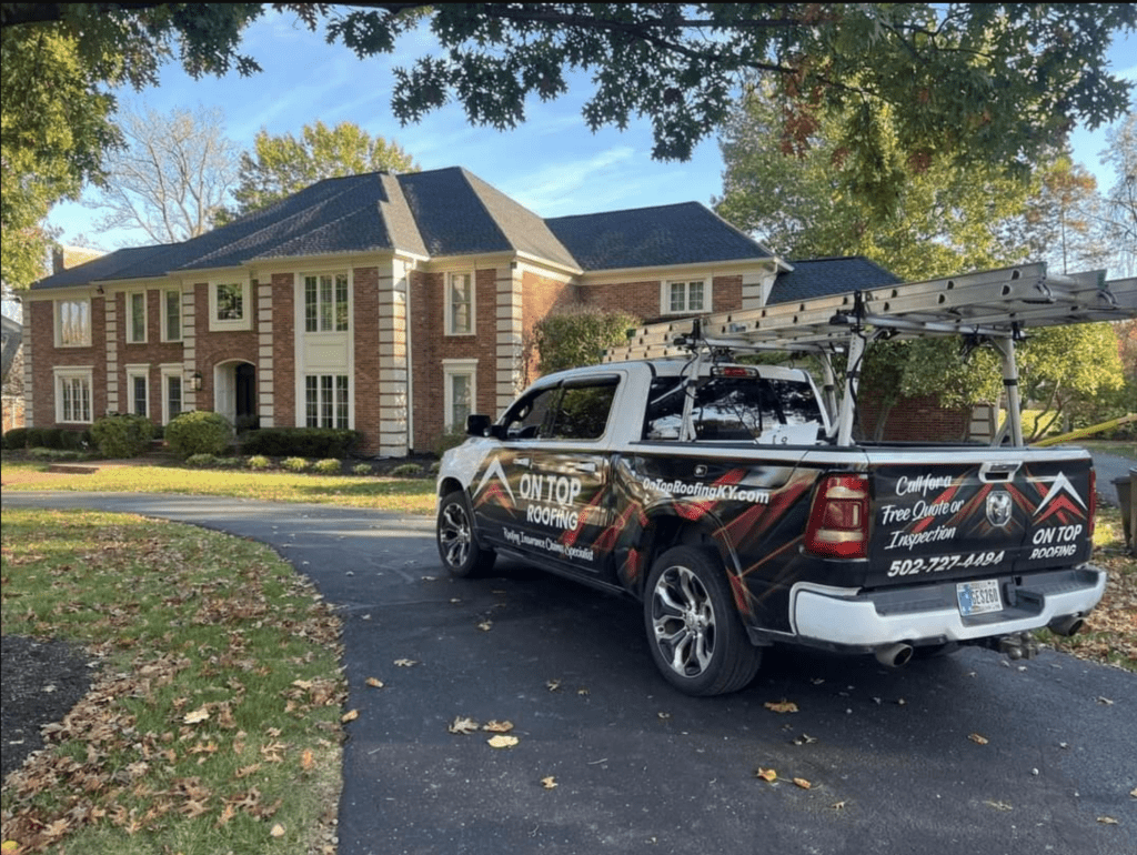
[[156,243],[177,243],[213,227],[236,183],[236,144],[219,109],[123,110],[125,146],[105,161],[106,185],[92,207],[100,229],[141,229]]

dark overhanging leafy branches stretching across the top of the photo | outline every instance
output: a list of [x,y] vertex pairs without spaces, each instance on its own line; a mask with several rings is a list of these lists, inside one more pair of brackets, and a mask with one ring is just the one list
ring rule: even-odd
[[[584,72],[595,91],[584,122],[625,127],[646,116],[653,156],[686,159],[727,117],[746,76],[791,108],[787,139],[837,115],[861,192],[893,206],[904,173],[882,169],[882,141],[920,167],[995,164],[1026,171],[1076,123],[1110,122],[1132,84],[1105,69],[1119,30],[1137,25],[1131,3],[281,3],[323,25],[359,57],[390,53],[429,27],[429,45],[397,69],[391,107],[417,121],[458,101],[475,124],[513,127],[525,103],[568,89]],[[259,3],[5,3],[2,23],[65,27],[92,68],[125,60],[132,82],[153,80],[177,53],[193,74],[242,72],[236,52]]]

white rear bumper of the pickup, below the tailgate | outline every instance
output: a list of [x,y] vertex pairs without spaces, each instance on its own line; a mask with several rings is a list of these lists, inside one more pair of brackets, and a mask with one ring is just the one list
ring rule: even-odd
[[971,617],[960,614],[955,582],[870,592],[800,582],[790,593],[790,619],[802,641],[823,646],[973,641],[1085,615],[1105,591],[1105,571],[1090,564],[1021,579],[1002,580],[1001,612]]

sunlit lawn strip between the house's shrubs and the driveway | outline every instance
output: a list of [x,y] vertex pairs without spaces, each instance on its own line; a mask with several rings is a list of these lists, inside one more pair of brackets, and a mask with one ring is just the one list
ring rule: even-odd
[[48,465],[3,460],[5,490],[75,490],[96,492],[177,492],[232,496],[264,501],[313,501],[370,507],[399,514],[434,513],[434,480],[357,475],[308,475],[290,472],[194,470],[181,466],[138,465],[99,470],[94,474],[28,478]]

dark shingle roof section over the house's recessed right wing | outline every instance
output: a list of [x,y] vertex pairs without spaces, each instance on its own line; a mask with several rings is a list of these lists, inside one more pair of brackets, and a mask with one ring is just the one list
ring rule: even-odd
[[698,202],[545,222],[586,271],[770,257],[761,243]]

